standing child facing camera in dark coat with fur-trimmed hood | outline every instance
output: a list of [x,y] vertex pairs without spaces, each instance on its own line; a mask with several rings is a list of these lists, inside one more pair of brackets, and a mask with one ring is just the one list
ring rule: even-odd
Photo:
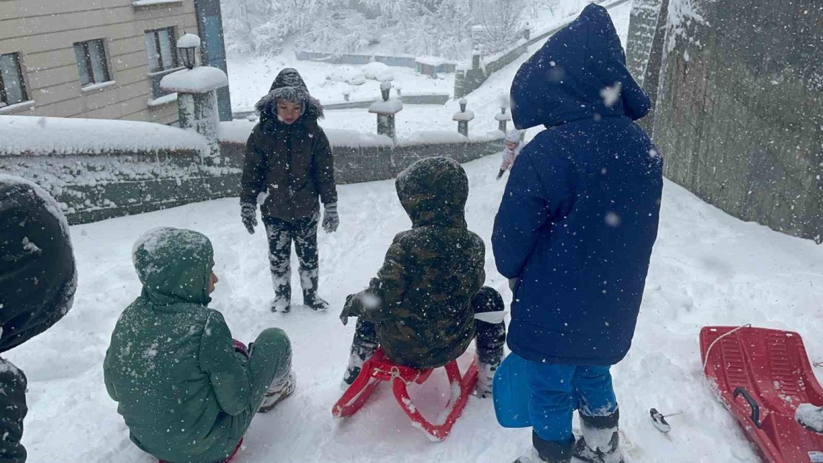
[[323,202],[323,230],[337,231],[337,186],[334,159],[326,134],[317,123],[323,106],[309,95],[300,74],[283,69],[258,101],[260,122],[246,143],[240,207],[249,233],[260,207],[269,244],[275,298],[272,311],[291,310],[291,242],[300,260],[303,302],[328,309],[318,296],[317,227]]

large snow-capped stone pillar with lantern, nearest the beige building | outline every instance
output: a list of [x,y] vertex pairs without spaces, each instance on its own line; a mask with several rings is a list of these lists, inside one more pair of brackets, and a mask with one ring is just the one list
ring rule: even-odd
[[229,85],[229,77],[221,69],[197,65],[200,38],[185,34],[177,41],[177,49],[187,69],[172,72],[160,81],[163,91],[177,93],[178,123],[181,129],[193,130],[206,138],[209,152],[207,163],[220,164],[220,144],[217,143],[218,88]]

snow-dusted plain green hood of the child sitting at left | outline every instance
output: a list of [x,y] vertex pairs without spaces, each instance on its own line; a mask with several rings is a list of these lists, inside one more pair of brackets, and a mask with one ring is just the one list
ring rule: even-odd
[[155,228],[134,244],[132,260],[142,295],[157,306],[189,302],[207,306],[214,266],[212,242],[198,232]]

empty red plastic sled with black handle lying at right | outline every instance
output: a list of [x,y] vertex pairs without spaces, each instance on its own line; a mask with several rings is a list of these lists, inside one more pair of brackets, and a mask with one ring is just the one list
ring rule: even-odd
[[823,390],[800,334],[746,327],[717,340],[735,328],[700,330],[704,373],[714,381],[721,400],[765,461],[823,461],[823,436],[794,419],[797,405],[823,405]]

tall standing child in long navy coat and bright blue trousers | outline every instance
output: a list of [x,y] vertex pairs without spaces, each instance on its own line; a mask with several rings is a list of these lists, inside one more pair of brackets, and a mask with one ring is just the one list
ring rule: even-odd
[[546,126],[514,162],[492,236],[514,292],[509,348],[529,361],[532,442],[543,461],[621,461],[609,368],[635,333],[663,189],[633,122],[649,99],[597,5],[523,63],[511,99],[518,129]]

